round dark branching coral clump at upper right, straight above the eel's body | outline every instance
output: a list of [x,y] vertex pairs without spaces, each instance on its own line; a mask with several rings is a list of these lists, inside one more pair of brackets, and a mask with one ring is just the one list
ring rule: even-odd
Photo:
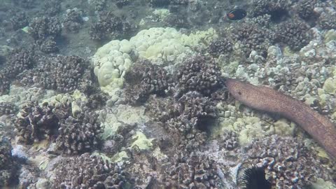
[[289,45],[292,50],[300,50],[312,38],[310,27],[300,21],[281,22],[277,26],[277,41]]

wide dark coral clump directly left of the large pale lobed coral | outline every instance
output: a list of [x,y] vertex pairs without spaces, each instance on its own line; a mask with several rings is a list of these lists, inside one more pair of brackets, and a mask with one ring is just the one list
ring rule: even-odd
[[19,75],[20,83],[59,92],[95,90],[86,59],[77,56],[42,56],[34,69]]

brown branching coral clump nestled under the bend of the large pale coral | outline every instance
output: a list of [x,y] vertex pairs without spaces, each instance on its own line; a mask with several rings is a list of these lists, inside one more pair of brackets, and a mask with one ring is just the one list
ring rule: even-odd
[[150,94],[165,95],[172,87],[172,75],[148,60],[134,63],[125,74],[125,98],[131,104],[146,102]]

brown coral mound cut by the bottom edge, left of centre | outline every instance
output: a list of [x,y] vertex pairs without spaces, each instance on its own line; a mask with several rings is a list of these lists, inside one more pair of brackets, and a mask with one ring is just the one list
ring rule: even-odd
[[122,167],[89,153],[63,158],[55,177],[55,188],[125,188],[131,179]]

